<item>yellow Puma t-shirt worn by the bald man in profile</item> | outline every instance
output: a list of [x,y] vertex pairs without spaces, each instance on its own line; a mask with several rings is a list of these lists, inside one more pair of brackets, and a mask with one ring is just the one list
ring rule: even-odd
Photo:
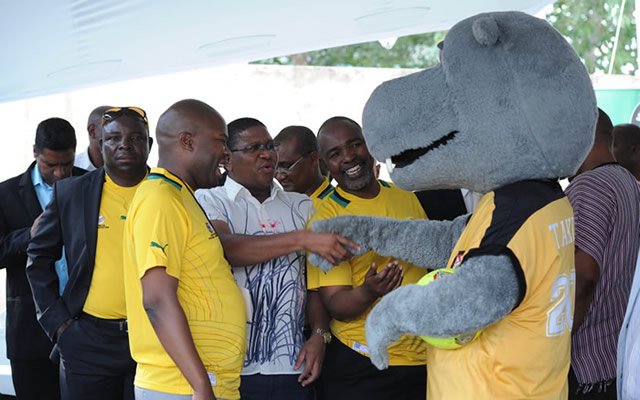
[[125,290],[135,385],[192,394],[149,322],[140,279],[156,266],[177,278],[182,306],[216,397],[238,399],[246,350],[245,306],[220,240],[193,191],[154,168],[136,193],[125,226]]

